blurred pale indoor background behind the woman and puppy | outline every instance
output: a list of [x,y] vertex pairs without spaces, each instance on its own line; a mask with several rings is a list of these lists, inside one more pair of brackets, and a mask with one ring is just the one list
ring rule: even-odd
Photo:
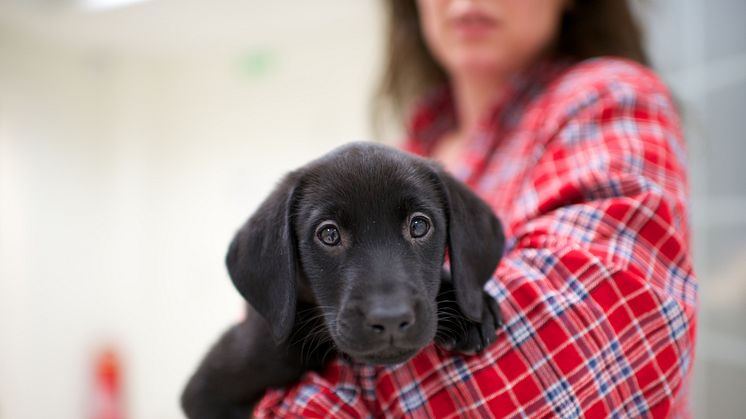
[[[686,121],[693,409],[742,417],[746,2],[635,5]],[[243,312],[235,229],[283,173],[373,137],[380,6],[0,0],[0,418],[91,417],[113,370],[127,417],[182,416]]]

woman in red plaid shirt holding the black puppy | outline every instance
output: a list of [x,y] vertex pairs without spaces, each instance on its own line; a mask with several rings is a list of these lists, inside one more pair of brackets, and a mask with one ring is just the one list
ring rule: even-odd
[[[382,102],[505,225],[478,356],[334,361],[256,413],[686,415],[696,314],[684,142],[619,0],[389,0]],[[424,98],[424,99],[423,99]]]

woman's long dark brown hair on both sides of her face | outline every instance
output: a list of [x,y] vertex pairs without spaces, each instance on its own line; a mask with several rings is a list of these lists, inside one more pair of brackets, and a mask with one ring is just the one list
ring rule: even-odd
[[[373,119],[401,122],[412,104],[447,82],[420,30],[415,0],[386,0],[388,20],[383,73]],[[570,60],[613,55],[649,65],[642,34],[625,0],[574,0],[564,12],[554,54]]]

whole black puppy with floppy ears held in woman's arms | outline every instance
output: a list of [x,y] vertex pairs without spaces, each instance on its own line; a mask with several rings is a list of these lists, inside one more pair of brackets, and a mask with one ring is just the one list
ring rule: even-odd
[[230,245],[228,271],[248,315],[202,361],[184,411],[246,418],[267,388],[332,355],[396,364],[433,339],[482,350],[501,322],[482,287],[503,242],[469,189],[389,147],[348,145],[290,173]]

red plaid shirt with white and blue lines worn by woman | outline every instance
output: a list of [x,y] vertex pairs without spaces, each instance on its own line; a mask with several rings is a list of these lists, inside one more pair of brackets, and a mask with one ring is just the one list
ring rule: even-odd
[[[428,155],[454,120],[447,92],[429,98],[405,148]],[[505,225],[486,286],[497,342],[476,356],[431,345],[397,367],[337,359],[269,391],[256,416],[686,416],[697,285],[679,125],[665,86],[629,61],[517,78],[455,173]]]

